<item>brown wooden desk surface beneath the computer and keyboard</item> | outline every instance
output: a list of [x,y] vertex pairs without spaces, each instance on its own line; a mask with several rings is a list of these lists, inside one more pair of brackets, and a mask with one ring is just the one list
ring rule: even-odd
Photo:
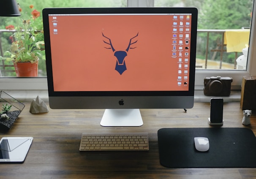
[[[30,114],[30,103],[11,130],[0,136],[33,136],[23,164],[0,164],[2,179],[85,178],[256,178],[255,168],[165,168],[159,163],[157,131],[163,127],[210,127],[209,103],[195,103],[183,109],[142,109],[141,127],[101,127],[103,110],[52,110]],[[256,134],[256,114],[251,125],[242,125],[240,103],[224,104],[223,127],[248,127]],[[147,152],[80,152],[83,132],[148,132]],[[255,151],[256,152],[256,151]]]

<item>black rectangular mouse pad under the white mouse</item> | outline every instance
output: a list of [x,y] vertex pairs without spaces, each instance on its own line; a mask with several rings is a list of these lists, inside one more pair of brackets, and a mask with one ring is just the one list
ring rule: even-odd
[[[210,149],[197,151],[194,137],[207,137]],[[256,137],[248,128],[162,128],[158,147],[165,167],[256,167]]]

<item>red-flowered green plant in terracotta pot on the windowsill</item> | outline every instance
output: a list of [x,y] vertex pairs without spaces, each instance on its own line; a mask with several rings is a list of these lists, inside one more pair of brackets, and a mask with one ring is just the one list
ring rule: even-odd
[[[38,76],[39,56],[44,53],[44,41],[38,40],[44,31],[39,31],[36,27],[36,20],[40,16],[40,12],[33,9],[33,5],[30,5],[30,9],[31,16],[29,18],[18,17],[16,30],[10,36],[11,49],[4,53],[7,57],[0,57],[0,60],[14,62],[16,76]],[[19,8],[19,11],[22,12],[22,9]],[[6,29],[14,30],[15,27],[8,25]]]

